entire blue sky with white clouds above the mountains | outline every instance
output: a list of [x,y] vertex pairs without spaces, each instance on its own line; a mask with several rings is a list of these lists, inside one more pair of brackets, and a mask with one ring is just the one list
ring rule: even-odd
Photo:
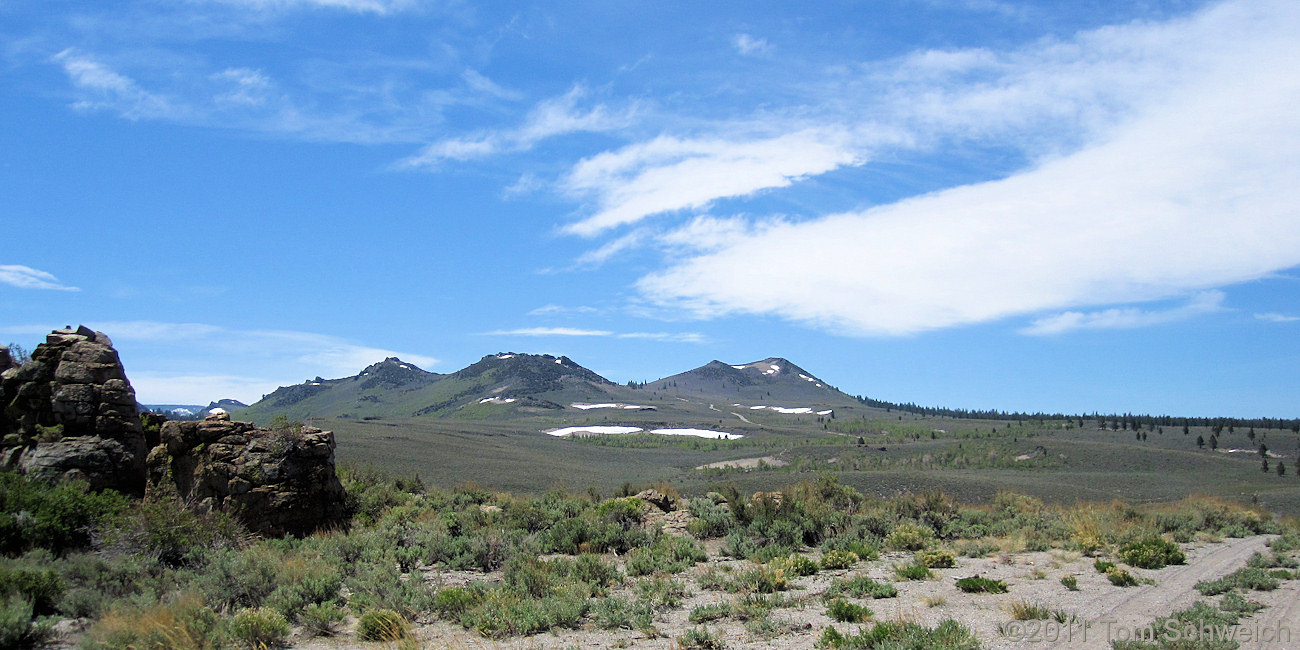
[[1291,1],[0,0],[0,341],[1300,415]]

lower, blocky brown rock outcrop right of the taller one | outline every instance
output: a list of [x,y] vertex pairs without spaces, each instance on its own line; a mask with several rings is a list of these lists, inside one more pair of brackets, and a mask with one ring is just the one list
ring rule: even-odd
[[224,412],[166,422],[148,456],[148,484],[266,536],[304,534],[346,516],[334,434],[311,426],[259,429]]

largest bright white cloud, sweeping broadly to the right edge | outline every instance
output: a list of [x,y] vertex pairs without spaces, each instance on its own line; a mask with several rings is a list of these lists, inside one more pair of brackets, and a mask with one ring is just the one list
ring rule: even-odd
[[[940,99],[897,110],[946,133],[1004,134],[1027,151],[1024,142],[1053,136],[1040,126],[1072,116],[1071,151],[998,181],[777,224],[670,261],[638,287],[703,317],[775,315],[898,335],[1167,299],[1295,266],[1300,77],[1282,62],[1300,61],[1292,3],[1227,3],[1001,57],[1010,73],[950,81]],[[606,195],[640,199],[636,187]],[[615,212],[623,203],[606,202],[614,216],[581,231],[701,200]]]

